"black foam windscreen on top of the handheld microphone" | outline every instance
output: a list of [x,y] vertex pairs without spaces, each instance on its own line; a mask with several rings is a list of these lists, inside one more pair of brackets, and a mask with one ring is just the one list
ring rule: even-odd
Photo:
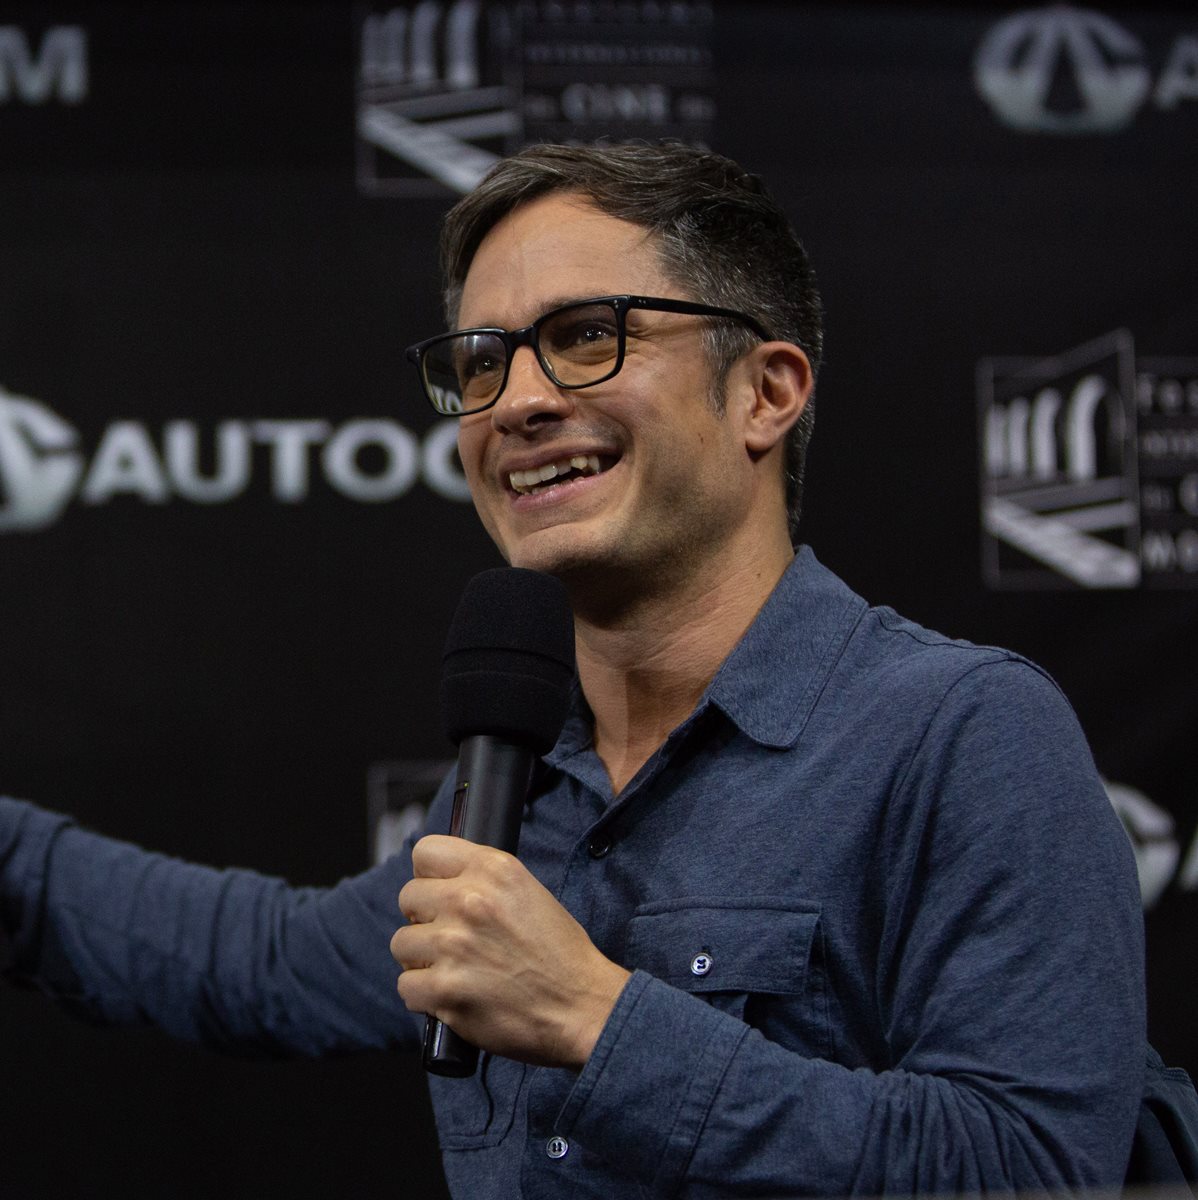
[[484,733],[547,752],[565,722],[573,679],[574,617],[561,581],[501,566],[466,584],[441,676],[451,742]]

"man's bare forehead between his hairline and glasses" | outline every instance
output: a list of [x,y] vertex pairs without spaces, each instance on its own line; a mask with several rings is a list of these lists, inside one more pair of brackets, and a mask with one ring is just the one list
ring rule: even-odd
[[466,274],[457,323],[511,329],[569,300],[660,295],[664,288],[671,284],[652,233],[583,197],[545,196],[514,209],[483,239]]

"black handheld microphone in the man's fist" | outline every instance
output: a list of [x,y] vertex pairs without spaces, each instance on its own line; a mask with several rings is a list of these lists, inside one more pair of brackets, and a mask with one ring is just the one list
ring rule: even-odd
[[[466,586],[445,641],[441,713],[459,745],[450,834],[516,852],[537,758],[553,748],[574,679],[574,619],[562,583],[497,568]],[[465,1078],[478,1048],[425,1019],[424,1068]]]

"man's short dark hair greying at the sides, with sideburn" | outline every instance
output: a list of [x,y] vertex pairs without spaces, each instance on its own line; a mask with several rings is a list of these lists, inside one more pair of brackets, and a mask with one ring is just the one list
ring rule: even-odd
[[[483,239],[519,205],[555,192],[576,192],[599,211],[649,230],[663,269],[690,299],[755,317],[775,337],[798,346],[813,377],[817,372],[823,348],[820,294],[785,212],[756,175],[731,158],[681,142],[534,145],[496,163],[442,227],[450,326],[457,322],[466,274]],[[756,340],[727,323],[713,324],[707,337],[719,406],[730,367]],[[786,438],[792,538],[814,420],[809,398]]]

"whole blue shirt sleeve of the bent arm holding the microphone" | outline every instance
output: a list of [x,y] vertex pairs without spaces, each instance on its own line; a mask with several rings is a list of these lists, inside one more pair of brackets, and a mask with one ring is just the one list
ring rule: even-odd
[[885,820],[887,1062],[801,1056],[639,971],[558,1132],[688,1200],[1120,1186],[1143,922],[1131,847],[1055,685],[1018,660],[964,673]]

